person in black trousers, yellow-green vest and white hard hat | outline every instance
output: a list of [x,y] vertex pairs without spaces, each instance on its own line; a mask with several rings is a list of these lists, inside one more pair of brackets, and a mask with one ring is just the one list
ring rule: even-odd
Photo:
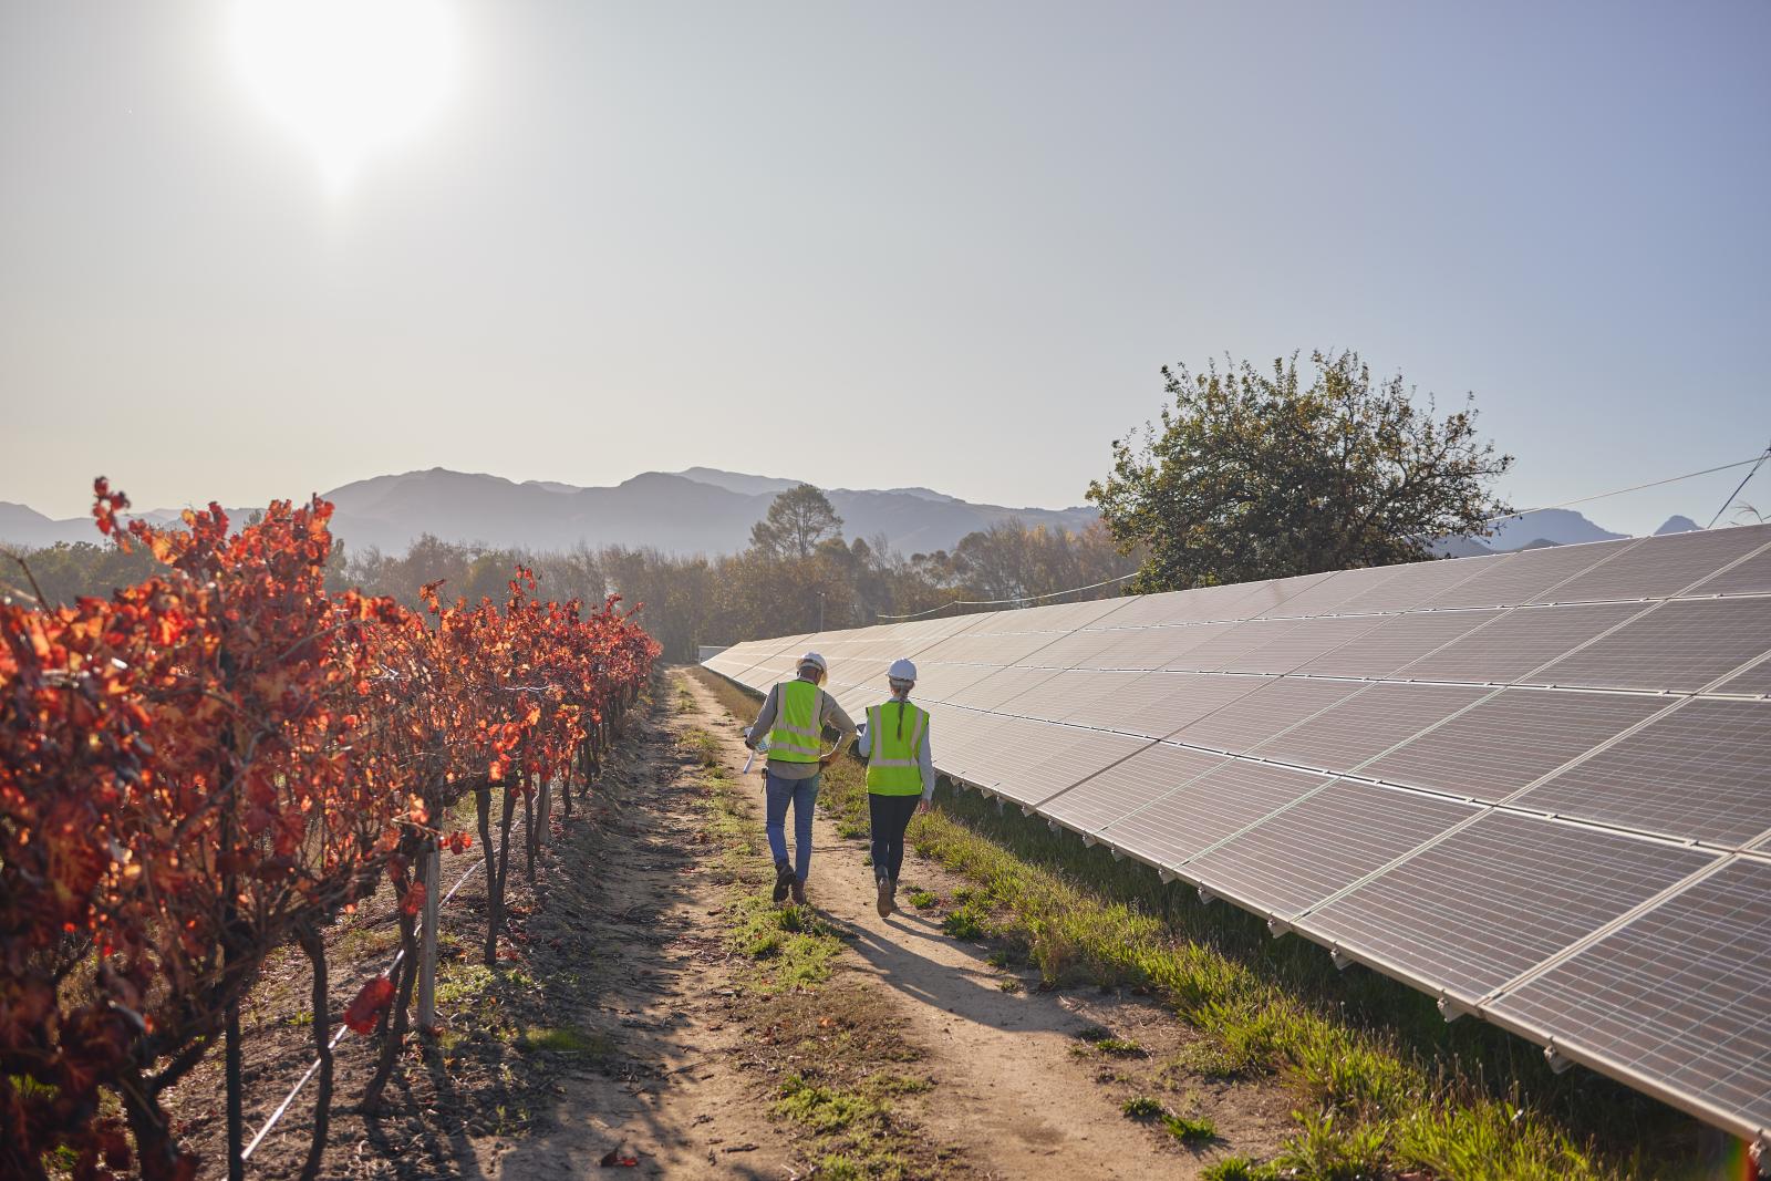
[[910,816],[926,813],[935,797],[935,756],[928,745],[928,710],[910,703],[916,666],[893,660],[886,671],[891,701],[868,710],[861,754],[868,760],[868,818],[873,822],[873,876],[878,912],[898,908],[898,871],[903,869],[903,832]]

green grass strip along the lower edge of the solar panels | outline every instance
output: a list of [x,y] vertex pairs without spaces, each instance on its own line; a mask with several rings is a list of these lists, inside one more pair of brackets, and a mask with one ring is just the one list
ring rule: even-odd
[[[703,675],[737,714],[739,687]],[[956,896],[956,938],[995,935],[1048,984],[1141,986],[1203,1034],[1179,1066],[1217,1077],[1273,1075],[1326,1115],[1300,1115],[1288,1169],[1353,1177],[1427,1170],[1489,1177],[1702,1177],[1693,1123],[1587,1071],[1553,1075],[1541,1052],[1473,1020],[1447,1023],[1429,997],[1328,954],[1226,903],[1162,885],[1132,861],[1084,848],[1018,809],[999,811],[946,784],[917,816],[917,853],[976,885]],[[824,776],[834,816],[866,811],[852,760]],[[985,930],[985,917],[990,930]],[[976,924],[976,930],[974,926]],[[1603,1146],[1596,1147],[1596,1146]]]

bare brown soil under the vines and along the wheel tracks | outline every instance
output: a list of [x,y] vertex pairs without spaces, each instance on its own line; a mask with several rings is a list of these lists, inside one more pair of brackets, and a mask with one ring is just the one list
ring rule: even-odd
[[[770,1114],[781,1055],[744,995],[731,951],[731,885],[715,873],[700,756],[680,737],[721,737],[733,776],[739,721],[692,676],[668,673],[577,814],[551,823],[533,887],[521,841],[501,967],[478,965],[483,882],[475,871],[445,908],[441,1039],[413,1039],[381,1115],[354,1110],[370,1039],[347,1034],[326,1177],[804,1177],[816,1160],[804,1128]],[[680,689],[691,708],[677,708]],[[762,825],[762,779],[742,779]],[[521,820],[519,820],[521,830]],[[1206,1080],[1185,1066],[1192,1034],[1149,997],[1041,992],[1038,976],[992,967],[986,944],[942,933],[944,905],[967,884],[914,853],[903,910],[873,908],[866,843],[820,816],[809,901],[847,938],[836,977],[859,984],[878,1029],[893,1030],[933,1085],[894,1098],[900,1131],[926,1139],[914,1170],[960,1177],[1192,1177],[1231,1153],[1266,1158],[1293,1128],[1293,1098],[1272,1082]],[[445,859],[455,882],[478,855]],[[942,905],[919,912],[909,885]],[[391,898],[331,935],[333,1022],[393,954]],[[243,1020],[246,1124],[257,1128],[312,1061],[299,954],[271,965]],[[1094,1030],[1135,1041],[1105,1054]],[[218,1057],[218,1055],[216,1055]],[[1125,1100],[1208,1117],[1217,1139],[1185,1146],[1160,1123],[1128,1119]],[[216,1062],[170,1105],[205,1177],[225,1176]],[[248,1176],[292,1177],[306,1154],[312,1085],[248,1162]],[[611,1165],[604,1165],[611,1160]],[[632,1160],[632,1165],[625,1165]],[[935,1163],[928,1163],[935,1162]]]

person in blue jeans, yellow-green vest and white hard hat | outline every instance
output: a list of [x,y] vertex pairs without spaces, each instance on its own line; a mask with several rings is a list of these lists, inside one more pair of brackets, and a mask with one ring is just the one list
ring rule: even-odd
[[[816,652],[799,659],[799,678],[785,680],[769,691],[756,722],[744,731],[744,745],[756,749],[769,742],[765,770],[765,827],[769,852],[776,861],[774,901],[781,903],[792,891],[795,903],[806,901],[806,875],[811,871],[811,814],[818,800],[818,783],[824,768],[841,758],[855,740],[855,724],[836,705],[836,698],[818,685],[831,675],[831,666]],[[836,749],[824,751],[824,728],[839,733]],[[793,806],[793,861],[786,848],[786,809]]]

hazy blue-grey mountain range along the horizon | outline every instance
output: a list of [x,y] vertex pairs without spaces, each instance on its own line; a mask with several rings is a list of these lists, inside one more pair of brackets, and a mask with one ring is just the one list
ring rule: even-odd
[[[374,476],[326,492],[336,505],[333,531],[352,549],[404,552],[423,533],[453,542],[485,542],[526,549],[572,549],[584,544],[653,545],[673,552],[721,554],[749,542],[751,524],[769,503],[799,480],[756,476],[715,467],[648,471],[613,487],[577,487],[547,480],[517,483],[501,476],[432,467],[398,476]],[[1082,529],[1093,508],[1008,508],[972,505],[930,489],[827,489],[848,536],[886,536],[894,549],[951,549],[962,536],[1018,519],[1029,526]],[[230,510],[232,512],[232,510]],[[151,521],[177,519],[177,510],[145,512]],[[244,510],[236,513],[244,517]],[[1695,529],[1672,517],[1658,533]],[[1442,551],[1465,556],[1528,545],[1573,545],[1622,536],[1578,512],[1546,508],[1507,521],[1486,542],[1447,538]],[[96,542],[89,517],[55,521],[25,505],[0,501],[0,542],[16,547],[55,542]]]

